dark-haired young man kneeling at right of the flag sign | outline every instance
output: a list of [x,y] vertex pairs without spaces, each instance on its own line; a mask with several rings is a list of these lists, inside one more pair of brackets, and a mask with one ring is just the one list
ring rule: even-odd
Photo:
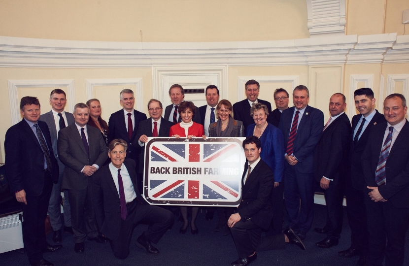
[[241,203],[227,221],[236,244],[239,259],[232,266],[246,266],[257,258],[256,251],[285,248],[291,243],[305,250],[300,238],[290,229],[284,233],[261,237],[268,230],[272,219],[271,191],[273,172],[260,158],[261,142],[256,136],[243,141],[248,163],[244,166],[241,183]]

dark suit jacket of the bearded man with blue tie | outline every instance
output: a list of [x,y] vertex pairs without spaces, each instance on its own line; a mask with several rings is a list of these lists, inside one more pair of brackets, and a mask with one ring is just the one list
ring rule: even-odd
[[376,113],[372,120],[369,122],[368,126],[366,127],[365,131],[362,133],[361,137],[358,139],[357,144],[354,143],[354,130],[361,118],[361,114],[354,115],[352,117],[352,130],[350,136],[350,178],[352,182],[353,188],[357,190],[364,190],[367,191],[364,179],[364,172],[362,171],[362,164],[361,164],[361,157],[362,153],[364,152],[365,146],[368,142],[369,133],[374,125],[385,122],[385,117],[383,114],[379,113],[376,110]]

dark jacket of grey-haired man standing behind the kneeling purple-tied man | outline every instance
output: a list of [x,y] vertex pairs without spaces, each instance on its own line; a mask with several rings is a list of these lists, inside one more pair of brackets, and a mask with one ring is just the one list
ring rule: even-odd
[[[121,109],[111,114],[108,121],[109,128],[108,143],[115,138],[121,138],[125,140],[128,144],[127,158],[138,161],[141,148],[138,144],[138,138],[136,138],[136,132],[138,130],[138,125],[140,121],[145,120],[146,115],[144,113],[134,110],[134,116],[135,116],[135,123],[133,125],[134,130],[132,133],[132,137],[130,138],[128,135],[128,131],[126,129],[124,109]],[[139,166],[136,165],[136,167],[138,168]]]

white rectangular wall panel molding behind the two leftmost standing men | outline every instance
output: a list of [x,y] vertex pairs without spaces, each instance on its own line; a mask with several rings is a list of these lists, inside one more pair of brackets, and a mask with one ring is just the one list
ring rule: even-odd
[[8,95],[10,100],[11,123],[17,124],[21,120],[20,116],[20,99],[18,98],[19,88],[30,87],[67,87],[68,90],[68,112],[74,110],[75,89],[73,79],[56,79],[56,80],[7,80]]

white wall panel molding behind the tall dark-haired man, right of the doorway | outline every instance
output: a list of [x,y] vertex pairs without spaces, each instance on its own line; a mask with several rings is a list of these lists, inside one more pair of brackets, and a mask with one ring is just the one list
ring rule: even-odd
[[239,76],[237,82],[237,101],[243,100],[246,98],[244,91],[244,84],[250,79],[255,79],[259,83],[282,83],[282,82],[291,82],[291,88],[295,88],[299,85],[299,76]]

